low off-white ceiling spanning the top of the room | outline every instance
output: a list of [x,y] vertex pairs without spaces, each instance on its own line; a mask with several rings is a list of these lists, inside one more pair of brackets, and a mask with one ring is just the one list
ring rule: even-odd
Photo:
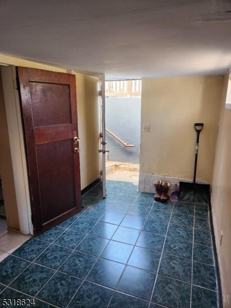
[[107,80],[224,74],[230,0],[0,0],[0,53]]

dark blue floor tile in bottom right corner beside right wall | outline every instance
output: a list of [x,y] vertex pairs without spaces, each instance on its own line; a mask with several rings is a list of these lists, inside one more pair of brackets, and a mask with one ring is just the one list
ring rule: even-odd
[[191,308],[217,308],[218,298],[214,291],[192,285]]

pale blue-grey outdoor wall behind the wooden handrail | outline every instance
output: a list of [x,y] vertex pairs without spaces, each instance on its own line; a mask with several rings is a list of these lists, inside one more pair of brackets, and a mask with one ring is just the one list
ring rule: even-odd
[[125,147],[106,132],[108,160],[139,164],[141,98],[106,98],[105,119],[107,129],[124,142],[134,144]]

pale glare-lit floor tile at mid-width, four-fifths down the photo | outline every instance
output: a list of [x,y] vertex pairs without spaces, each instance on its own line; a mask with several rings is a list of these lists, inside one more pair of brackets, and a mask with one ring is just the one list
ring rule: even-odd
[[105,248],[101,258],[126,263],[133,246],[125,243],[110,241]]

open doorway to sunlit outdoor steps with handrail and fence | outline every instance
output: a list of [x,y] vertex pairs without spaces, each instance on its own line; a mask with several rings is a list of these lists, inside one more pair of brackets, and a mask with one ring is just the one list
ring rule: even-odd
[[141,80],[105,82],[106,180],[138,185]]

